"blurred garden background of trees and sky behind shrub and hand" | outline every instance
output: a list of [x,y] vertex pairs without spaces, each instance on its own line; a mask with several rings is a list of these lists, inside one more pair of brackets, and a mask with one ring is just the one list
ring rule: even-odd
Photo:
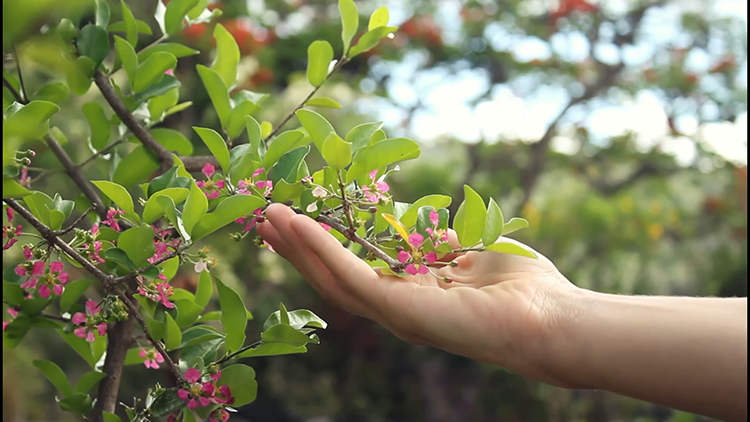
[[[156,28],[156,1],[129,3],[136,18]],[[43,81],[63,79],[54,46],[27,34],[55,25],[64,8],[80,10],[85,21],[89,3],[4,0],[4,53],[16,49],[20,57],[20,63],[6,59],[4,70],[17,76],[20,68],[31,92]],[[111,3],[117,21],[120,8]],[[422,144],[423,156],[393,177],[394,197],[410,201],[446,193],[457,206],[461,186],[471,183],[528,219],[531,229],[519,240],[581,287],[623,294],[747,295],[744,2],[357,3],[363,24],[376,7],[387,5],[400,31],[323,88],[323,95],[344,105],[323,114],[342,131],[381,120],[390,136]],[[210,7],[223,11],[218,20],[242,50],[237,89],[271,94],[259,121],[277,123],[306,95],[311,41],[326,39],[341,48],[333,0],[225,0]],[[181,34],[203,52],[180,59],[177,69],[181,97],[193,105],[163,123],[195,138],[196,148],[202,143],[190,127],[218,126],[194,71],[211,60],[212,26],[194,25]],[[144,45],[156,36],[148,38],[142,36]],[[79,162],[91,154],[80,105],[98,96],[96,89],[71,96],[52,119],[72,134],[67,148]],[[4,107],[9,100],[6,92]],[[112,171],[118,160],[112,154],[110,164],[92,164],[86,171],[93,179]],[[33,165],[35,188],[72,192],[67,179],[54,177],[62,173],[41,170],[59,168],[54,159],[38,158]],[[233,420],[703,420],[605,392],[550,387],[405,344],[322,302],[273,253],[249,240],[238,245],[228,236],[212,239],[217,269],[241,286],[253,313],[267,315],[283,301],[330,323],[322,344],[304,357],[252,362],[261,386],[258,399]],[[4,270],[18,259],[4,253]],[[175,283],[191,289],[196,278],[184,268]],[[248,328],[257,331],[252,323],[260,323],[251,321]],[[4,421],[67,417],[31,360],[54,356],[72,374],[81,373],[84,363],[72,350],[58,348],[59,339],[39,334],[3,352]],[[60,356],[63,352],[69,356]],[[126,370],[124,402],[140,387],[143,371]]]

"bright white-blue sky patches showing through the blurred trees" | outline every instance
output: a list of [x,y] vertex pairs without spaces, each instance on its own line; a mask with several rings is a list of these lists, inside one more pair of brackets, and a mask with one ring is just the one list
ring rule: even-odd
[[[391,22],[399,24],[405,19],[406,11],[399,9],[398,2],[389,4]],[[455,3],[446,2],[439,11],[439,23],[444,29],[445,39],[450,40],[455,28],[457,10]],[[546,2],[529,1],[529,7],[547,7]],[[624,9],[624,2],[610,0],[607,7],[617,13]],[[645,18],[646,32],[644,42],[628,48],[624,60],[628,65],[645,64],[651,57],[653,46],[678,40],[678,16],[685,9],[700,11],[703,2],[683,0],[678,6],[672,5]],[[403,13],[400,13],[403,12]],[[741,0],[716,0],[711,4],[710,13],[716,16],[739,16],[747,22],[747,4]],[[496,49],[511,51],[520,61],[545,59],[554,49],[558,54],[575,60],[585,57],[588,47],[583,36],[559,36],[549,44],[531,38],[520,38],[509,34],[498,24],[488,28],[486,33],[491,45]],[[602,61],[613,59],[613,49],[601,46],[595,54]],[[384,100],[372,99],[360,104],[368,114],[379,114],[386,127],[398,127],[406,117],[404,108],[416,104],[421,99],[422,106],[414,114],[411,126],[406,135],[415,140],[429,144],[446,137],[455,137],[466,142],[477,142],[485,139],[488,142],[521,139],[533,142],[541,138],[548,124],[559,114],[569,100],[568,94],[559,87],[544,86],[536,83],[533,77],[520,78],[513,85],[495,86],[490,98],[481,101],[475,107],[471,101],[484,93],[489,87],[486,79],[476,70],[466,69],[449,73],[443,69],[420,72],[414,78],[414,70],[424,58],[418,53],[407,57],[398,65],[383,69],[391,73],[388,85],[389,95],[400,107],[389,105]],[[694,54],[688,57],[688,68],[700,72],[711,65],[707,54]],[[747,87],[746,65],[744,75],[738,80],[741,86]],[[363,85],[367,88],[367,83]],[[612,104],[614,103],[614,104]],[[551,147],[562,153],[575,153],[577,141],[567,137],[574,128],[572,122],[585,117],[585,124],[593,138],[605,140],[608,137],[632,131],[637,134],[637,144],[648,150],[656,143],[661,148],[675,155],[678,162],[690,165],[696,157],[694,141],[683,137],[667,136],[667,115],[658,94],[653,91],[641,91],[634,97],[619,95],[616,101],[593,101],[594,111],[581,114],[583,110],[571,109],[561,121],[559,135]],[[710,110],[709,110],[710,111]],[[709,113],[710,114],[710,113]],[[747,113],[743,112],[734,123],[710,123],[698,126],[695,118],[682,118],[679,129],[688,136],[694,137],[715,150],[727,160],[736,164],[747,165]]]

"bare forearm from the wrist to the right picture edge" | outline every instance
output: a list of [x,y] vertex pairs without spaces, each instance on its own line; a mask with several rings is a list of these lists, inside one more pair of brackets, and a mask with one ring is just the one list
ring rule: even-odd
[[561,334],[561,374],[725,420],[747,420],[747,299],[584,292]]

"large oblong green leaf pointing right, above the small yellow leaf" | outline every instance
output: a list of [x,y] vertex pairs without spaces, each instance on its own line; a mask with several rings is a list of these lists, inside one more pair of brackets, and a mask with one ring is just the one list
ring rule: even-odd
[[361,150],[346,174],[351,183],[372,170],[419,157],[419,145],[406,138],[390,138]]

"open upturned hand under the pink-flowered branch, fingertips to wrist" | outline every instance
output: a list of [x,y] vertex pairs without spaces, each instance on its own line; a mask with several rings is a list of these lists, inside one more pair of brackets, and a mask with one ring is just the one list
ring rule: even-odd
[[[557,375],[553,355],[556,327],[574,313],[579,289],[547,258],[469,252],[448,257],[457,266],[437,269],[452,283],[433,274],[396,277],[371,268],[318,223],[284,205],[270,205],[266,217],[259,234],[326,300],[407,342],[570,387]],[[450,242],[458,247],[455,233]]]

